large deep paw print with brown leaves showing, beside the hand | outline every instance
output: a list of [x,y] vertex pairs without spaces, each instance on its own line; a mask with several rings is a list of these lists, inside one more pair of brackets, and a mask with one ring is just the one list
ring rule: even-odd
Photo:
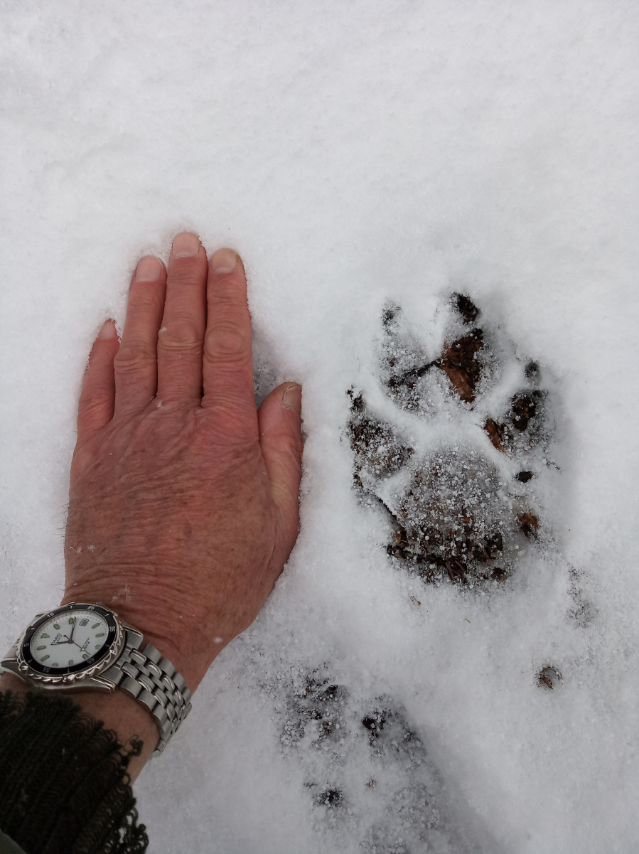
[[[537,363],[521,360],[498,327],[480,326],[468,295],[444,310],[444,341],[429,354],[401,309],[386,307],[379,380],[404,412],[393,424],[349,389],[354,484],[364,505],[386,512],[395,564],[427,582],[503,582],[543,535],[549,395]],[[410,418],[433,427],[432,442],[415,441],[423,430],[410,436]]]

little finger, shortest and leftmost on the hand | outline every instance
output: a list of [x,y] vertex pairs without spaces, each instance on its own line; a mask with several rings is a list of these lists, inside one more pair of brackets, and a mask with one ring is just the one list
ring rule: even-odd
[[118,333],[107,320],[93,342],[78,401],[78,442],[89,438],[113,418],[115,382],[113,359],[118,352]]

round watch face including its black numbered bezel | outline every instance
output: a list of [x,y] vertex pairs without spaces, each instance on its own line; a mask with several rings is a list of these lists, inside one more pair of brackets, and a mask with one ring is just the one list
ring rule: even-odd
[[62,676],[89,670],[118,635],[111,611],[99,605],[64,605],[40,617],[22,641],[22,658],[38,673]]

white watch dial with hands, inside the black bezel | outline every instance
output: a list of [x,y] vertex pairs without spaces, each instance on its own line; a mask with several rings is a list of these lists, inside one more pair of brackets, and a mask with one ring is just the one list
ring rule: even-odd
[[101,658],[112,636],[101,614],[78,608],[50,617],[34,633],[29,649],[43,667],[67,668]]

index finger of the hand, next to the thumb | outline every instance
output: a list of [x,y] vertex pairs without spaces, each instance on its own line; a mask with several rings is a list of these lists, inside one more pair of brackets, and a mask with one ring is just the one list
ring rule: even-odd
[[218,249],[212,254],[206,301],[201,405],[215,412],[222,429],[254,440],[258,423],[247,278],[240,257],[231,249]]

